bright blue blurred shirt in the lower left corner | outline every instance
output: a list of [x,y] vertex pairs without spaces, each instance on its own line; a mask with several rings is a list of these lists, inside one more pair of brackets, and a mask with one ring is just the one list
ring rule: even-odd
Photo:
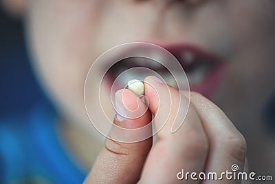
[[0,183],[82,183],[81,172],[65,151],[56,132],[56,114],[36,105],[22,119],[0,123]]

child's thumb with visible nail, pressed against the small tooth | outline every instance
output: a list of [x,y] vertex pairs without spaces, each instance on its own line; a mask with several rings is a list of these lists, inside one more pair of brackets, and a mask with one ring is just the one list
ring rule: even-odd
[[[115,106],[117,115],[113,121],[113,127],[118,125],[122,128],[135,129],[151,122],[151,113],[142,100],[130,90],[118,90],[115,93]],[[125,118],[125,114],[119,112],[122,110],[133,113],[137,108],[145,113],[136,118]],[[111,128],[110,134],[114,133],[118,132]],[[126,136],[126,139],[131,140],[133,139],[131,136],[135,136],[135,134],[120,132],[115,136],[123,136],[123,138]],[[152,140],[151,137],[137,143],[122,143],[106,139],[105,146],[84,183],[137,183],[146,156],[151,149]]]

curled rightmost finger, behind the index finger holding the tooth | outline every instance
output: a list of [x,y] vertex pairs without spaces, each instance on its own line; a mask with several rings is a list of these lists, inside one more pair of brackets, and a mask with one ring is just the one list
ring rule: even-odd
[[[197,110],[208,136],[210,150],[206,172],[243,172],[246,143],[243,135],[236,129],[228,117],[211,101],[192,93],[190,101]],[[223,183],[239,183],[225,180]],[[211,181],[211,183],[221,181]]]

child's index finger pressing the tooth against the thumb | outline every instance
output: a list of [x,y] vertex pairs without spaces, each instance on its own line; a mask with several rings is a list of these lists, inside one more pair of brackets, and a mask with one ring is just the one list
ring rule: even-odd
[[[179,130],[171,134],[170,130],[177,116],[184,115],[185,105],[188,99],[179,94],[175,88],[168,87],[164,83],[155,81],[152,76],[145,79],[145,95],[149,101],[149,108],[155,116],[155,126],[159,127],[170,113],[168,121],[157,133],[159,141],[152,148],[144,170],[141,183],[181,183],[177,179],[177,173],[182,169],[186,172],[202,172],[208,156],[208,140],[201,125],[199,116],[192,106],[188,110],[186,120]],[[179,102],[179,97],[181,101]],[[170,103],[169,103],[170,101]],[[179,104],[181,103],[181,104]],[[171,104],[172,106],[170,107]],[[171,109],[170,109],[171,108]],[[190,181],[199,183],[199,181]]]

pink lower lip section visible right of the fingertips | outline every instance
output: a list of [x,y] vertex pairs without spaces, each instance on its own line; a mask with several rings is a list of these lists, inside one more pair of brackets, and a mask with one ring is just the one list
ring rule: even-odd
[[208,73],[203,81],[199,84],[192,85],[190,84],[190,91],[195,91],[203,94],[204,96],[211,98],[223,79],[224,74],[224,65],[218,65],[212,70],[212,72]]

